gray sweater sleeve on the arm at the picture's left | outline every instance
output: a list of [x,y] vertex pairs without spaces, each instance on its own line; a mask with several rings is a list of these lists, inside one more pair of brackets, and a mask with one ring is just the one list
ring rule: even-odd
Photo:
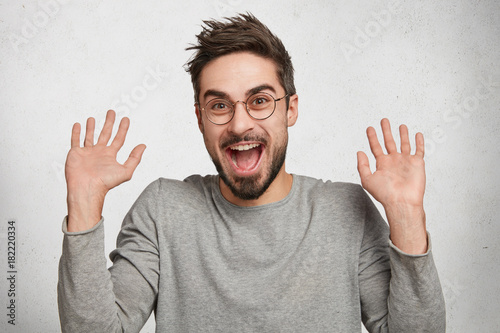
[[159,254],[151,184],[124,219],[106,268],[101,220],[84,232],[63,222],[58,305],[62,332],[139,332],[155,307]]

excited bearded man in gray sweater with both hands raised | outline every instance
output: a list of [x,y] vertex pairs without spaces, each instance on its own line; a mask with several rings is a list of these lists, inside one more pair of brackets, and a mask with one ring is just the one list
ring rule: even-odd
[[[218,176],[159,179],[122,225],[106,269],[104,197],[129,180],[145,146],[120,165],[124,118],[96,144],[75,124],[66,162],[68,217],[59,275],[65,332],[444,332],[444,302],[425,228],[424,141],[358,153],[363,187],[291,175],[287,128],[298,115],[290,56],[252,15],[210,21],[188,63],[195,112]],[[390,235],[390,236],[389,236]]]

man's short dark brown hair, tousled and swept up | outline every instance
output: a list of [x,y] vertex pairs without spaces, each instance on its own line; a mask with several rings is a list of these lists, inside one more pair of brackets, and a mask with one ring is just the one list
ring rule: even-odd
[[[196,50],[186,64],[191,75],[194,100],[199,102],[200,74],[212,60],[235,52],[251,52],[274,61],[278,79],[288,95],[295,94],[293,65],[281,40],[250,13],[226,18],[227,22],[203,21],[205,26],[196,37],[198,44],[186,50]],[[287,98],[287,105],[288,105]]]

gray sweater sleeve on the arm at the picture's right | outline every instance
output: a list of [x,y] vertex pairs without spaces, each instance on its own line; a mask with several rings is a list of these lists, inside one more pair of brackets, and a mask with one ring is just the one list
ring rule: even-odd
[[362,319],[369,332],[445,332],[441,284],[428,251],[409,255],[389,240],[388,226],[366,196],[359,262]]

